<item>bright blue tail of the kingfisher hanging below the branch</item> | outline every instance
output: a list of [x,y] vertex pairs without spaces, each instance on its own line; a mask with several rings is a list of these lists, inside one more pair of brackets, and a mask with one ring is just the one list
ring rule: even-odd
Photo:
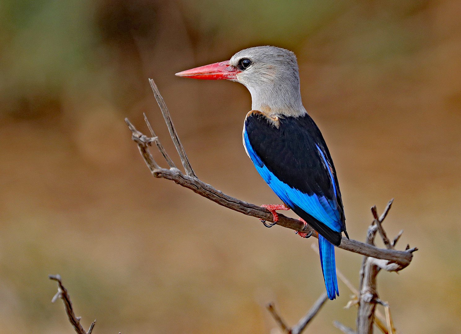
[[339,296],[336,280],[335,246],[319,234],[320,265],[325,279],[326,293],[331,300]]

